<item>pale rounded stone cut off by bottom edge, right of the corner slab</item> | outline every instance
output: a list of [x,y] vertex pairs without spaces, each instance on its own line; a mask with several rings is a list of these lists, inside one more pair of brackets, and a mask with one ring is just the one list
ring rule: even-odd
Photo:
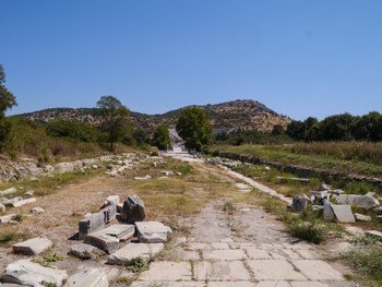
[[109,280],[104,272],[87,268],[70,276],[64,287],[108,287]]

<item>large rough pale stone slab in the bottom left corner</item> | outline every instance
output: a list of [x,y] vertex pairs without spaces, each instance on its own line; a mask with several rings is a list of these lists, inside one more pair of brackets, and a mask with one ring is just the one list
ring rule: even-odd
[[2,274],[3,283],[16,283],[25,286],[41,286],[43,280],[56,283],[61,287],[68,279],[67,271],[43,267],[28,260],[19,260],[7,266]]

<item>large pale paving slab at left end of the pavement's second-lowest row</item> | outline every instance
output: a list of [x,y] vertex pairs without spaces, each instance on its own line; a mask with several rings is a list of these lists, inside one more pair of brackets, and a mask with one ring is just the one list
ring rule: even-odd
[[142,273],[140,280],[191,282],[191,265],[189,262],[158,261],[150,264],[150,270]]

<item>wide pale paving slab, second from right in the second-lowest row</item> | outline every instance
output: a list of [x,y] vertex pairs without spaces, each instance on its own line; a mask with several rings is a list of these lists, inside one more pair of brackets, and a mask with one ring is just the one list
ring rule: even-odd
[[286,260],[248,260],[256,280],[306,280]]

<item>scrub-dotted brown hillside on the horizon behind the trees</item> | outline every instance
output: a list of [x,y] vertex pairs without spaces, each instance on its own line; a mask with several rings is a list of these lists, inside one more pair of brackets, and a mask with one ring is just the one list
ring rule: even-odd
[[[286,127],[290,119],[278,115],[263,104],[254,100],[232,100],[216,105],[196,106],[204,109],[214,128],[236,128],[240,130],[272,131],[275,124]],[[138,127],[153,131],[158,124],[175,127],[177,119],[187,107],[168,111],[163,115],[145,115],[131,112],[131,120]],[[91,124],[99,124],[100,118],[96,108],[55,108],[45,109],[20,116],[33,121],[48,122],[57,118],[77,119]]]

